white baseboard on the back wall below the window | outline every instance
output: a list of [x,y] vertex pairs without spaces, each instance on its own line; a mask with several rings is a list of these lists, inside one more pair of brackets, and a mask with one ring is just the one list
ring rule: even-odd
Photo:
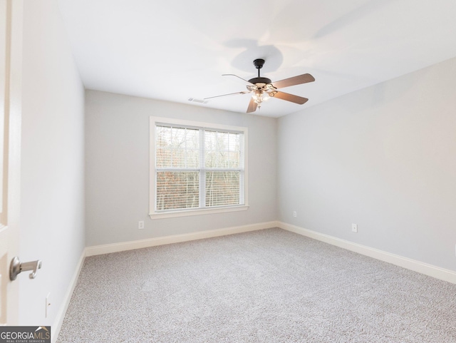
[[110,252],[140,249],[142,247],[155,247],[157,245],[187,242],[190,240],[202,240],[203,238],[219,237],[224,235],[232,235],[234,233],[268,229],[269,227],[278,227],[278,225],[279,222],[277,221],[261,222],[259,224],[226,227],[224,229],[191,232],[182,235],[148,238],[147,240],[134,240],[130,242],[95,245],[92,247],[86,247],[86,256],[103,255]]

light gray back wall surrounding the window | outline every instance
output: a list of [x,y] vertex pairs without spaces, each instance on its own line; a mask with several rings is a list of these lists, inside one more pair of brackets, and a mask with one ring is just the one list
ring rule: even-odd
[[[151,220],[150,116],[246,126],[249,210]],[[88,246],[276,220],[276,119],[86,91],[86,208]]]

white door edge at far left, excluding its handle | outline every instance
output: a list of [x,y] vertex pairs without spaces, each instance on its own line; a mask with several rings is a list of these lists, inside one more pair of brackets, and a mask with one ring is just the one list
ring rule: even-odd
[[19,282],[9,266],[19,252],[22,0],[0,0],[0,325],[17,325]]

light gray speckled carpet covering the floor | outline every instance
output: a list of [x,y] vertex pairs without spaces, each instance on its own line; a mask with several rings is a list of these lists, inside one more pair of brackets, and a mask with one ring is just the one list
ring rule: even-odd
[[87,257],[58,343],[456,342],[456,285],[272,228]]

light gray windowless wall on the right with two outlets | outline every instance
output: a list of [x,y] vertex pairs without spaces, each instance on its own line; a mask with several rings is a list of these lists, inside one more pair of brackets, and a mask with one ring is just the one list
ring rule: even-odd
[[280,118],[280,220],[456,270],[455,76],[453,58]]

